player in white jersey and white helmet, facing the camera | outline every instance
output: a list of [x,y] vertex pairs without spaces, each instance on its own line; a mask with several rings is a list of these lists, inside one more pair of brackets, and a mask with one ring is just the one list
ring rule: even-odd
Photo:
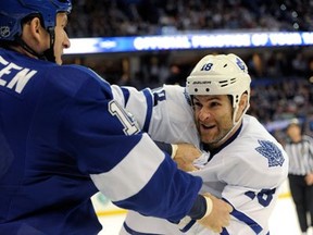
[[[246,114],[250,83],[247,65],[237,55],[206,55],[187,78],[186,89],[125,88],[127,98],[120,99],[155,140],[192,143],[203,150],[202,161],[197,162],[200,170],[190,173],[202,177],[203,191],[234,208],[223,235],[270,234],[268,220],[287,177],[286,152],[255,118]],[[142,107],[132,104],[138,99],[145,101]],[[129,211],[121,234],[215,233],[192,220],[176,226]]]

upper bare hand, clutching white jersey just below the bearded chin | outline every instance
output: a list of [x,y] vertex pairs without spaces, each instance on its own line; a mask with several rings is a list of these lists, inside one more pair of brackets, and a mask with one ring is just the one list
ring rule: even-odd
[[172,157],[177,163],[178,168],[183,171],[196,171],[198,170],[193,165],[193,161],[198,159],[202,152],[190,144],[177,144],[172,145]]

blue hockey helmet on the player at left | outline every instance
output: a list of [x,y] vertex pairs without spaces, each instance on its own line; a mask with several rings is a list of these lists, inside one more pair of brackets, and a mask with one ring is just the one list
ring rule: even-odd
[[14,41],[22,34],[23,18],[28,15],[39,15],[42,26],[50,32],[55,26],[57,13],[71,10],[71,0],[1,0],[0,40]]

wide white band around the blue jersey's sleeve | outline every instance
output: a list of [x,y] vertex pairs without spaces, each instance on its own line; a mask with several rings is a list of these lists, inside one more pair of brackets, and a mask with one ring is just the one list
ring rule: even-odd
[[[98,189],[112,201],[125,200],[138,194],[165,158],[164,153],[150,143],[148,135],[143,134],[136,147],[111,171],[91,174],[90,176]],[[138,158],[138,152],[147,158]],[[149,158],[149,156],[154,156],[154,158]],[[141,174],[138,174],[138,169],[140,169]],[[108,186],[108,182],[115,182],[115,184]]]

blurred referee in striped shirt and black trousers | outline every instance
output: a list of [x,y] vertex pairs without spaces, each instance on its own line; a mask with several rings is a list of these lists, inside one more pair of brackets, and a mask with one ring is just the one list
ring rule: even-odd
[[289,141],[285,150],[289,156],[289,186],[296,205],[302,234],[308,233],[310,223],[313,225],[313,138],[303,135],[298,120],[287,126]]

